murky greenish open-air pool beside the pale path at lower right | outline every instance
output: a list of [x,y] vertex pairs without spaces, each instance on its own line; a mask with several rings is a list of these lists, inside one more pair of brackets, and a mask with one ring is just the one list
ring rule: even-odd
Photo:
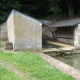
[[72,54],[64,56],[58,55],[52,57],[80,70],[80,54]]

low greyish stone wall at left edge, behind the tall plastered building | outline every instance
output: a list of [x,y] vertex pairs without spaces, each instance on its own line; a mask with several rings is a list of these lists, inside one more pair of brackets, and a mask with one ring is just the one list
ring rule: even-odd
[[6,22],[0,25],[0,40],[7,40],[7,25]]

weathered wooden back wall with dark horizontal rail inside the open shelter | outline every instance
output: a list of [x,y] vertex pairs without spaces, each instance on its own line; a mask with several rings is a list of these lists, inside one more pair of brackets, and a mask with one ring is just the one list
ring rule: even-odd
[[74,44],[73,28],[58,28],[57,40],[69,44]]

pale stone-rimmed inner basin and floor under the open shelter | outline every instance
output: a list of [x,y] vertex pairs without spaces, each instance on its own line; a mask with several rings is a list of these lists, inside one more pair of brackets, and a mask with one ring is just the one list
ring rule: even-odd
[[73,45],[65,44],[61,42],[51,42],[43,43],[43,53],[49,52],[59,52],[59,51],[70,51],[75,49]]

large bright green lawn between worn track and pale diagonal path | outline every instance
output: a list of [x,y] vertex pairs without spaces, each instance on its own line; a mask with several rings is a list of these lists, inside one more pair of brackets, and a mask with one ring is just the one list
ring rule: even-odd
[[[4,53],[0,50],[0,61],[11,64],[18,70],[28,74],[30,79],[36,80],[75,80],[71,75],[63,73],[37,54],[25,52],[24,54]],[[29,79],[29,80],[30,80]]]

